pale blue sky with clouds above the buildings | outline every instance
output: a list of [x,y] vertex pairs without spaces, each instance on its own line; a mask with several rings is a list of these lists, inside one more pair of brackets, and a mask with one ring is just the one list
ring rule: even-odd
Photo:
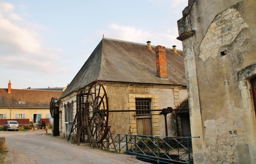
[[66,87],[102,36],[168,48],[188,0],[0,0],[0,88]]

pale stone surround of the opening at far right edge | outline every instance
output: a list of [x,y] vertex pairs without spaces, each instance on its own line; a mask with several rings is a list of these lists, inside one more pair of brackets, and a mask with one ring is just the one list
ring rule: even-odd
[[243,69],[238,73],[239,79],[239,89],[241,91],[245,125],[247,130],[247,143],[249,144],[250,157],[253,159],[253,154],[256,154],[254,145],[256,141],[256,117],[255,117],[255,108],[251,93],[251,84],[250,80],[256,76],[256,64]]

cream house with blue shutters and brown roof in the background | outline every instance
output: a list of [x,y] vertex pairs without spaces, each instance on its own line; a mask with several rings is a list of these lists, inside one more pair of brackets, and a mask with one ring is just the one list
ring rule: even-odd
[[[62,89],[63,90],[63,89]],[[0,88],[0,119],[29,119],[34,123],[50,118],[49,102],[62,91]]]

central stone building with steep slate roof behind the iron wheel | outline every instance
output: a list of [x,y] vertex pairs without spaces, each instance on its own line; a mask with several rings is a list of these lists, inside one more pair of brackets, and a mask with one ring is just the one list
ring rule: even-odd
[[[97,45],[70,85],[59,98],[60,131],[68,137],[76,112],[76,94],[94,81],[106,89],[109,110],[135,110],[146,102],[147,109],[180,106],[187,99],[183,51],[162,46],[104,38]],[[109,113],[112,133],[165,135],[164,117],[159,112],[139,116],[136,112]],[[72,117],[73,116],[73,117]],[[168,135],[176,136],[174,114],[168,114]],[[138,128],[138,124],[142,125]]]

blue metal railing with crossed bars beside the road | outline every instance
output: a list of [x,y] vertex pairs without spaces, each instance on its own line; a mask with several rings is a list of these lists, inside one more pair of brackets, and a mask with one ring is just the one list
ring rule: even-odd
[[193,137],[112,134],[112,138],[113,141],[109,137],[110,150],[114,150],[115,145],[120,153],[169,164],[190,164],[193,161]]

